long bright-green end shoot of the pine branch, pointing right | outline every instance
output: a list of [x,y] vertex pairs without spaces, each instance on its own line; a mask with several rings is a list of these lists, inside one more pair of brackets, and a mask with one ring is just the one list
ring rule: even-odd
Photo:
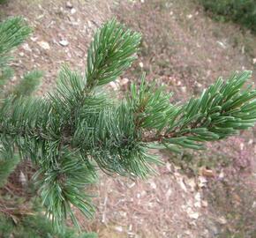
[[[252,89],[252,85],[242,90],[251,76],[251,71],[235,73],[227,83],[219,78],[215,85],[208,87],[201,94],[200,98],[192,98],[183,106],[168,107],[162,103],[163,108],[158,110],[160,107],[157,103],[150,105],[151,108],[157,108],[157,111],[150,112],[147,117],[144,116],[142,126],[158,131],[154,135],[145,136],[143,141],[159,142],[169,148],[176,145],[202,149],[203,145],[197,142],[227,138],[237,134],[238,130],[252,127],[256,122],[256,90]],[[153,92],[149,91],[148,94],[153,95]],[[140,97],[145,103],[147,96]],[[155,100],[155,95],[151,97]],[[147,108],[144,106],[144,115],[147,114]],[[171,111],[172,115],[168,115],[169,111],[165,111],[165,108]],[[160,128],[155,127],[156,123],[160,124]],[[161,131],[163,128],[164,131]]]

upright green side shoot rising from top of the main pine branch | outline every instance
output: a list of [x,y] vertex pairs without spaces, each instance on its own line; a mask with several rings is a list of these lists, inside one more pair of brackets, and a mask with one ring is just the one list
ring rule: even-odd
[[115,80],[136,59],[140,34],[125,30],[115,19],[105,24],[88,48],[87,87]]

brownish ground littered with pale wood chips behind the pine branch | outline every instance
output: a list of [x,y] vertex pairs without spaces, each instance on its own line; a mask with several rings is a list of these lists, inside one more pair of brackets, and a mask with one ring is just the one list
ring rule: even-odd
[[[84,71],[95,29],[113,16],[141,32],[143,41],[139,60],[109,86],[112,91],[122,92],[146,71],[148,80],[175,93],[172,100],[184,101],[219,76],[256,68],[256,37],[232,23],[213,21],[196,1],[9,0],[1,15],[23,16],[34,28],[14,52],[11,84],[40,69],[44,79],[38,95],[55,87],[62,63]],[[147,181],[101,174],[94,188],[95,219],[78,212],[83,229],[101,238],[255,237],[249,222],[256,218],[255,133],[208,145],[206,152],[155,151],[166,165]]]

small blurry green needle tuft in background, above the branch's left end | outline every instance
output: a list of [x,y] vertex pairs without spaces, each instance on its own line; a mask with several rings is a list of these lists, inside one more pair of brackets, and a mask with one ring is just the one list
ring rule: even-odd
[[40,85],[42,75],[41,71],[31,71],[26,73],[19,84],[15,86],[12,93],[17,97],[31,95]]

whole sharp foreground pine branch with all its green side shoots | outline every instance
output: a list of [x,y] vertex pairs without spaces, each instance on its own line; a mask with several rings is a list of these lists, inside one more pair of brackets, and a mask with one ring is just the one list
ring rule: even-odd
[[207,141],[227,138],[256,122],[256,91],[245,87],[250,71],[219,78],[199,98],[169,103],[170,94],[132,85],[124,100],[110,100],[102,86],[115,80],[136,58],[139,33],[115,19],[95,34],[83,76],[64,66],[56,90],[47,97],[9,97],[0,108],[0,142],[19,151],[38,168],[34,175],[42,205],[59,230],[72,206],[91,218],[94,207],[85,190],[97,169],[111,175],[146,178],[160,160],[149,148],[203,149]]

